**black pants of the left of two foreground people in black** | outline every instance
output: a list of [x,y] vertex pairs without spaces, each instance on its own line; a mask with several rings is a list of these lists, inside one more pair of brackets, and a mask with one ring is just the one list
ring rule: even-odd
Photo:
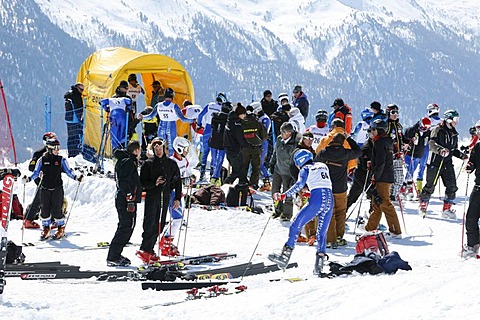
[[135,222],[137,220],[137,204],[135,204],[135,211],[127,211],[127,200],[122,196],[115,197],[115,208],[118,213],[117,231],[110,242],[108,250],[108,261],[116,261],[120,259],[123,248],[127,245],[132,237]]

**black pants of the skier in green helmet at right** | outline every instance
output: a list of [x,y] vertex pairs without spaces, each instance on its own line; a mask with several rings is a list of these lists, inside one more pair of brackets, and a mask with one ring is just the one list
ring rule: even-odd
[[427,167],[427,183],[422,189],[420,194],[421,201],[429,201],[433,192],[435,191],[436,183],[435,179],[442,178],[443,185],[445,186],[445,199],[444,201],[453,201],[455,200],[457,187],[457,179],[455,177],[455,170],[453,169],[453,163],[447,162],[443,163],[441,167],[429,165]]

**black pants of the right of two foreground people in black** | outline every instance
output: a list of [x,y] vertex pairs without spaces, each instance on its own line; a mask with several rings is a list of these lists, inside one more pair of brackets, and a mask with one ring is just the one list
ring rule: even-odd
[[145,213],[143,217],[142,245],[140,250],[154,253],[160,231],[165,229],[170,192],[149,193],[145,196]]

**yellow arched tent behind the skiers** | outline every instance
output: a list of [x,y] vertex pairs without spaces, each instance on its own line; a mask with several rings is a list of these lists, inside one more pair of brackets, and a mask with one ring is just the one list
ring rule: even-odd
[[[161,55],[134,51],[122,47],[105,48],[90,55],[80,67],[77,82],[85,85],[86,114],[84,150],[98,153],[103,123],[100,100],[111,97],[120,81],[127,80],[131,73],[141,74],[145,86],[146,104],[150,105],[152,82],[158,80],[163,88],[175,91],[174,102],[179,106],[185,99],[194,103],[193,84],[185,68],[174,59]],[[177,122],[177,134],[190,133],[189,125]],[[110,155],[110,143],[105,146]]]

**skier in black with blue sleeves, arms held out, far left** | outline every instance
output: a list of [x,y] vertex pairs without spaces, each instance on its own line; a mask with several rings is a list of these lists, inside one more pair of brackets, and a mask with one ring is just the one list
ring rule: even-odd
[[30,177],[24,176],[23,180],[27,183],[42,176],[40,217],[43,230],[40,239],[50,239],[50,224],[53,216],[57,223],[57,232],[51,238],[58,240],[65,236],[65,215],[62,210],[64,194],[62,172],[78,182],[82,181],[83,175],[75,175],[75,172],[68,166],[67,160],[59,155],[60,142],[56,138],[47,139],[46,147],[47,152],[38,160],[33,174]]

